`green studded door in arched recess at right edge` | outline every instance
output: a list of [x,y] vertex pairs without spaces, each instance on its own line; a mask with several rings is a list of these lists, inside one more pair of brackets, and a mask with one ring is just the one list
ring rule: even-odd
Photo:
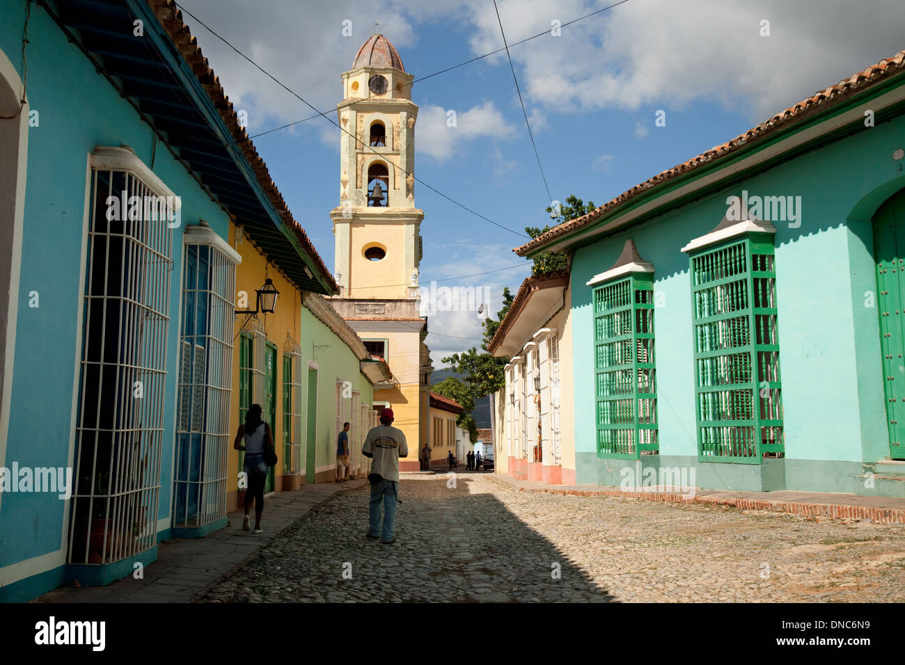
[[890,456],[905,460],[905,339],[902,292],[905,290],[905,189],[873,217],[873,256],[877,261],[877,309],[883,353],[883,387]]

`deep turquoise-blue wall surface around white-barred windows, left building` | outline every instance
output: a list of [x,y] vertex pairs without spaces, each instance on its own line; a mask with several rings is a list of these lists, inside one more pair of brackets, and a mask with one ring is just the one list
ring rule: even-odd
[[[22,68],[24,2],[0,0],[0,50]],[[151,129],[56,24],[33,5],[28,25],[28,100],[39,112],[28,136],[23,261],[19,288],[10,428],[5,466],[68,465],[76,371],[76,321],[88,155],[126,145],[148,166]],[[227,237],[229,220],[185,167],[157,144],[153,170],[182,197],[182,223],[205,219]],[[167,387],[158,518],[167,518],[172,485],[182,228],[174,230]],[[28,293],[40,308],[28,308]],[[60,549],[68,504],[55,494],[5,494],[0,503],[0,567]]]

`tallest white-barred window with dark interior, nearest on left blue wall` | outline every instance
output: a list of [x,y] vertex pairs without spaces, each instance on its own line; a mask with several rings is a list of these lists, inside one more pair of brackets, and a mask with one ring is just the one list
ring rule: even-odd
[[[108,219],[109,200],[132,196],[138,209]],[[92,169],[70,564],[157,543],[175,216],[165,201],[128,171]]]

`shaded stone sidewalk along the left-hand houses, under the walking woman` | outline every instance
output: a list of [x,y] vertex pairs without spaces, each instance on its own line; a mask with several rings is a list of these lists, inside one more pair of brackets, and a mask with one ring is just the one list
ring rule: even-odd
[[[242,529],[242,509],[229,513],[229,524],[204,538],[170,538],[158,546],[157,561],[144,579],[131,575],[108,586],[60,587],[33,603],[188,603],[195,594],[220,582],[258,555],[263,546],[299,518],[338,492],[367,485],[367,480],[304,484],[297,491],[264,498],[264,533]],[[254,513],[252,512],[252,528]]]

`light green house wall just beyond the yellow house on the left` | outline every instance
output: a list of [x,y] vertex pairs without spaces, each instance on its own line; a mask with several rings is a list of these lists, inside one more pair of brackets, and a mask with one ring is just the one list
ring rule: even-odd
[[[316,467],[325,467],[336,462],[336,413],[337,413],[337,381],[349,381],[352,390],[360,392],[358,404],[370,406],[373,400],[374,389],[365,375],[361,374],[358,358],[352,353],[352,349],[346,346],[336,334],[328,328],[319,318],[311,314],[308,308],[301,308],[301,349],[302,367],[307,376],[308,361],[314,360],[318,366],[318,422],[317,422],[317,447],[315,449]],[[314,347],[321,347],[315,349]],[[303,404],[308,404],[308,387],[304,385],[305,397]],[[344,400],[343,413],[348,413],[351,399]],[[306,414],[306,418],[310,414]],[[348,415],[345,416],[348,418]],[[305,428],[307,430],[306,421]],[[355,442],[349,440],[349,450],[352,452]],[[360,444],[357,451],[361,451]],[[302,460],[305,468],[307,458]],[[321,470],[321,472],[323,472]]]

